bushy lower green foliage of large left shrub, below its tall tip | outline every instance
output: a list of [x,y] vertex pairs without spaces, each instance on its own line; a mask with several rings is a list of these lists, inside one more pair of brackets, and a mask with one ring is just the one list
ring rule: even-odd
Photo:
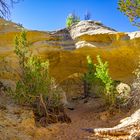
[[21,103],[34,103],[39,94],[48,96],[50,77],[48,75],[47,61],[35,56],[28,58],[24,66],[24,75],[16,87],[15,97]]

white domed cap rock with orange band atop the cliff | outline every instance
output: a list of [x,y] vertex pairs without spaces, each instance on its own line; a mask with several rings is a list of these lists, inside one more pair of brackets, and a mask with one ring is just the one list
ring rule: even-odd
[[81,21],[70,29],[72,38],[76,41],[76,48],[107,47],[116,40],[127,40],[129,36],[104,26],[97,21]]

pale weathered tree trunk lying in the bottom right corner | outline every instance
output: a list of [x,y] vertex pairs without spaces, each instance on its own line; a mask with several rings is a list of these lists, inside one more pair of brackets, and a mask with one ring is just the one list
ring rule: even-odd
[[110,140],[140,140],[140,109],[138,109],[130,117],[121,120],[120,124],[113,128],[84,130],[92,132],[94,136],[108,138]]

